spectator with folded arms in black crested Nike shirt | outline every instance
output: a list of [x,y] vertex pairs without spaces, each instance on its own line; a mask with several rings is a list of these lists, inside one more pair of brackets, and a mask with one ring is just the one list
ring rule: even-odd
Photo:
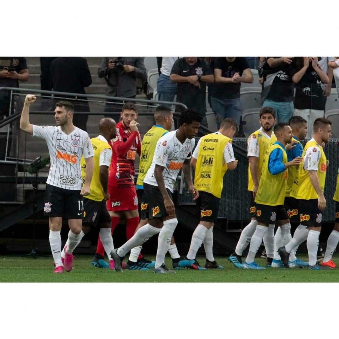
[[203,117],[201,125],[207,127],[206,83],[214,82],[207,61],[198,57],[184,57],[175,61],[169,79],[177,83],[177,102],[194,109]]

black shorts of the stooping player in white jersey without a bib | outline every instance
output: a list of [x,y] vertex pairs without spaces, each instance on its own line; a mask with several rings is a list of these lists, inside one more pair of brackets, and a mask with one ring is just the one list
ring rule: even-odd
[[[173,200],[171,191],[167,190],[167,188],[166,191],[169,198]],[[158,186],[144,183],[143,201],[146,201],[147,203],[145,211],[148,212],[148,219],[160,218],[163,220],[168,215],[164,205],[164,199]]]

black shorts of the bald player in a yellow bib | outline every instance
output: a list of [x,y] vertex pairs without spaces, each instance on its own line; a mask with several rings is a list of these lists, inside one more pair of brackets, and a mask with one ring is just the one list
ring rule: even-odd
[[89,223],[93,226],[104,223],[111,224],[111,216],[106,208],[106,201],[95,201],[84,197],[84,216],[83,223]]

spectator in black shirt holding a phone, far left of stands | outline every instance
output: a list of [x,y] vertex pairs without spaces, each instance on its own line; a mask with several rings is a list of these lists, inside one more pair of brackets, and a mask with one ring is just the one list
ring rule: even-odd
[[[28,81],[29,73],[26,58],[23,57],[0,57],[0,87],[19,87],[20,82]],[[9,107],[11,106],[11,91],[0,91],[0,122],[9,116]],[[14,112],[14,104],[12,101],[11,114]],[[18,121],[11,124],[12,132],[18,129]],[[1,144],[6,145],[4,138],[7,138],[8,125],[0,128]],[[10,134],[10,139],[11,139]],[[11,145],[9,140],[9,145]],[[15,145],[12,144],[11,149]],[[5,158],[5,147],[1,147],[0,159]]]

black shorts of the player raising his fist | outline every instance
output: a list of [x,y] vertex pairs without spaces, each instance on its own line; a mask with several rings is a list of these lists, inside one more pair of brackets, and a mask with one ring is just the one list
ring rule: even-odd
[[80,190],[66,190],[46,184],[44,215],[67,219],[82,219],[83,197]]

